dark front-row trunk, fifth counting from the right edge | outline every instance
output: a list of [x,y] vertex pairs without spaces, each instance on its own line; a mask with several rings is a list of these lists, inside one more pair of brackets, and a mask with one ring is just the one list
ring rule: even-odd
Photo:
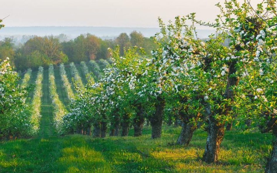
[[142,105],[139,104],[137,106],[136,117],[133,120],[135,137],[141,136],[141,134],[142,134],[142,127],[143,127],[143,123],[144,123],[143,114],[144,114],[144,110],[142,108]]

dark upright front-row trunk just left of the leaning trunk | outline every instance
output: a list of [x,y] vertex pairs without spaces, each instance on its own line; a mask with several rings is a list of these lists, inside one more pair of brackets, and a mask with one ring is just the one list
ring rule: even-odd
[[155,113],[150,118],[150,124],[152,126],[152,139],[160,138],[162,134],[162,118],[165,107],[165,99],[162,97],[157,97],[157,102],[155,103]]

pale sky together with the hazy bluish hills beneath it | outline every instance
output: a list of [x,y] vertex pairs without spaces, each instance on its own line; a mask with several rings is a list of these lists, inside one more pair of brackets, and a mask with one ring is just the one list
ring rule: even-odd
[[[168,21],[195,12],[198,19],[211,21],[219,13],[218,2],[224,0],[1,0],[0,18],[8,17],[0,40],[11,37],[17,45],[34,35],[65,34],[68,41],[87,33],[114,39],[134,30],[150,37],[159,31],[158,17]],[[251,0],[254,6],[258,2]],[[198,27],[200,38],[212,32]]]

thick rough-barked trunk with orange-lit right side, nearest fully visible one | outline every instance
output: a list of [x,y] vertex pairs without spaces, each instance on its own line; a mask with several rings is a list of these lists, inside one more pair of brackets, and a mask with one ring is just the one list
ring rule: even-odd
[[217,162],[221,141],[224,136],[224,123],[219,123],[214,117],[208,119],[208,137],[203,155],[203,160],[207,163]]

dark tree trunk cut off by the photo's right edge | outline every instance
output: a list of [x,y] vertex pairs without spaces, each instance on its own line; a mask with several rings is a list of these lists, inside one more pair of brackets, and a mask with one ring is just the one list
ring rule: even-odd
[[273,127],[272,150],[267,159],[265,173],[277,173],[277,124]]

